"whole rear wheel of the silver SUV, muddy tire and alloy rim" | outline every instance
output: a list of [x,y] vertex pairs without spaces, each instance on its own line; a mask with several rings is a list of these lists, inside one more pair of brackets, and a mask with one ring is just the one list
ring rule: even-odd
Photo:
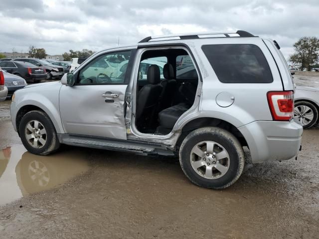
[[218,127],[190,132],[179,149],[180,166],[194,184],[212,189],[229,187],[244,168],[244,152],[238,139]]

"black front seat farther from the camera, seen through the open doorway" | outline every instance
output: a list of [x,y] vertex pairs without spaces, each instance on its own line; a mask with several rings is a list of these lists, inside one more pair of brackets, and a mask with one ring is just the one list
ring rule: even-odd
[[162,85],[163,89],[160,93],[159,112],[172,106],[173,95],[177,87],[177,82],[174,80],[174,68],[171,64],[166,63],[164,65],[163,76],[165,80],[160,82],[160,85]]

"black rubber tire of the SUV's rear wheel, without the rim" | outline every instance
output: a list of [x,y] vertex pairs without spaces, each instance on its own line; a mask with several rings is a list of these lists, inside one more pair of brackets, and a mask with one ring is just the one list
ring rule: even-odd
[[[214,141],[228,152],[229,169],[221,177],[207,179],[199,175],[192,167],[190,154],[192,148],[202,141]],[[199,128],[190,132],[179,149],[179,162],[184,174],[194,184],[211,189],[227,188],[237,181],[244,169],[244,151],[238,139],[230,132],[218,127]]]

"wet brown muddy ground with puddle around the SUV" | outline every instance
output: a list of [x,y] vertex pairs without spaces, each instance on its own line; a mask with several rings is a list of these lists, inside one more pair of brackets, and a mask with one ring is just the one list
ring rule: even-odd
[[247,164],[214,191],[190,183],[176,158],[69,146],[32,155],[9,104],[0,103],[1,239],[319,238],[319,127],[304,131],[298,160]]

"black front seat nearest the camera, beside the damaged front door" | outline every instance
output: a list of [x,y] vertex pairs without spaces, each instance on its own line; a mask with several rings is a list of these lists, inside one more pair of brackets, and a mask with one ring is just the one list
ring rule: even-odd
[[[151,65],[148,70],[148,85],[138,93],[136,123],[139,126],[152,126],[156,120],[155,110],[159,102],[162,86],[160,83],[160,68],[157,65]],[[138,126],[138,127],[139,127]]]

